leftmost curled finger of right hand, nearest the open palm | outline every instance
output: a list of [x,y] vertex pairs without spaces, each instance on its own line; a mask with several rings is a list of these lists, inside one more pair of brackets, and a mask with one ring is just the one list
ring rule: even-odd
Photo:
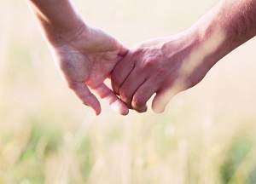
[[113,92],[116,95],[119,95],[119,88],[134,68],[134,62],[130,59],[131,57],[129,54],[125,55],[125,57],[122,60],[119,60],[117,65],[113,68],[113,72],[111,74],[111,85]]

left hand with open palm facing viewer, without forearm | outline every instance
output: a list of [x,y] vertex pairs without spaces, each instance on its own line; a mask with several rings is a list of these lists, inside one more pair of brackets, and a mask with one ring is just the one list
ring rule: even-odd
[[93,108],[96,115],[101,112],[100,102],[91,90],[113,110],[122,115],[129,112],[127,106],[104,83],[128,49],[107,33],[84,24],[65,34],[47,32],[47,37],[55,65],[67,86],[84,105]]

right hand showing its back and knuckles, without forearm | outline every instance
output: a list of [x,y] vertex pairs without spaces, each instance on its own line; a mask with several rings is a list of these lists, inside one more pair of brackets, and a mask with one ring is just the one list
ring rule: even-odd
[[152,108],[163,112],[173,95],[199,83],[213,66],[203,61],[214,52],[205,48],[212,46],[214,37],[199,45],[199,37],[194,36],[183,32],[139,43],[115,66],[113,91],[137,112],[146,112],[147,101],[156,93]]

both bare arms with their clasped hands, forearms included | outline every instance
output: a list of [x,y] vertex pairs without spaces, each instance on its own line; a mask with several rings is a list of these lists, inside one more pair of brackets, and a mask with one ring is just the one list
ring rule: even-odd
[[[139,43],[128,53],[107,33],[86,26],[71,0],[28,2],[64,81],[96,114],[101,106],[91,92],[123,115],[128,107],[146,112],[155,93],[152,108],[163,112],[173,95],[199,83],[218,60],[256,32],[256,3],[220,1],[188,31]],[[112,79],[113,90],[106,78]]]

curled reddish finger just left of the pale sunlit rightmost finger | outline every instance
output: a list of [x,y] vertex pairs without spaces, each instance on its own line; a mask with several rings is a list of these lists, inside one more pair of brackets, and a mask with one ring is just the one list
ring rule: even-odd
[[155,83],[149,81],[143,83],[133,95],[131,106],[137,112],[147,112],[147,101],[157,91],[158,86]]

